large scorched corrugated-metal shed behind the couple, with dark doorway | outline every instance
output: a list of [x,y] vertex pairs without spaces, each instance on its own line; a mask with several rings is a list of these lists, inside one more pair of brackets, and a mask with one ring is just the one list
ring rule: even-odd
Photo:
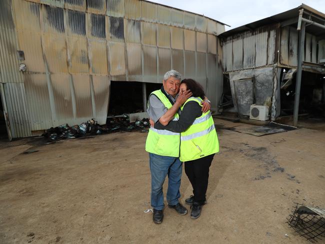
[[143,110],[171,68],[200,82],[217,110],[222,32],[221,22],[144,0],[1,0],[7,136],[91,117],[103,124],[108,107],[125,100]]

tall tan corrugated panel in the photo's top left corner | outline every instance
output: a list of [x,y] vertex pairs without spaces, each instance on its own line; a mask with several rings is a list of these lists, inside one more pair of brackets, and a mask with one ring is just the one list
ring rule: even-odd
[[0,7],[0,81],[22,82],[11,0],[2,0]]

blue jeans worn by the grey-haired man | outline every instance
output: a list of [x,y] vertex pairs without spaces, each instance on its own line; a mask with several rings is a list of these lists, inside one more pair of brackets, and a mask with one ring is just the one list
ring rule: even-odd
[[162,210],[163,192],[162,185],[168,175],[167,202],[169,205],[178,203],[180,197],[179,186],[182,172],[182,162],[179,157],[161,156],[149,152],[151,172],[151,206]]

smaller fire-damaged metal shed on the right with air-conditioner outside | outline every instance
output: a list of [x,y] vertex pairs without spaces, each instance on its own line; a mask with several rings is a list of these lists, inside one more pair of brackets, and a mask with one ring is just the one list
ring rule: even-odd
[[324,23],[324,13],[301,4],[221,33],[224,93],[233,102],[223,112],[247,118],[256,104],[294,125],[298,112],[324,118]]

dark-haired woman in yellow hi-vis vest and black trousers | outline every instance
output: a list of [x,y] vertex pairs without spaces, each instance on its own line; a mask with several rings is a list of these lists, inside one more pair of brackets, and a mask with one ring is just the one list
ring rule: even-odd
[[219,143],[210,111],[201,111],[202,86],[193,79],[183,79],[179,92],[188,89],[193,96],[181,106],[178,120],[169,121],[166,126],[155,123],[154,128],[180,132],[179,159],[184,161],[185,173],[193,187],[193,195],[185,202],[191,204],[191,218],[198,218],[206,203],[209,167],[214,154],[219,151]]

